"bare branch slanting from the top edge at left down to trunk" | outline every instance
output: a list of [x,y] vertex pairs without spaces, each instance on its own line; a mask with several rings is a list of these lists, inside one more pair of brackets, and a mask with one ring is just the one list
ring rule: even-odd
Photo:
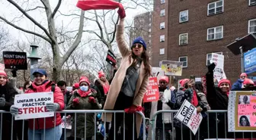
[[29,20],[31,20],[34,24],[36,24],[38,27],[40,27],[41,30],[43,30],[44,33],[46,33],[46,36],[48,36],[52,41],[54,40],[52,38],[52,36],[50,36],[50,34],[48,33],[48,31],[40,24],[38,23],[36,20],[34,20],[33,17],[30,17],[29,14],[27,14],[26,11],[24,11],[23,8],[21,8],[16,2],[12,1],[12,0],[7,0],[8,2],[10,2],[12,5],[14,5],[16,8],[18,8],[19,11],[21,11],[22,14],[24,14]]

